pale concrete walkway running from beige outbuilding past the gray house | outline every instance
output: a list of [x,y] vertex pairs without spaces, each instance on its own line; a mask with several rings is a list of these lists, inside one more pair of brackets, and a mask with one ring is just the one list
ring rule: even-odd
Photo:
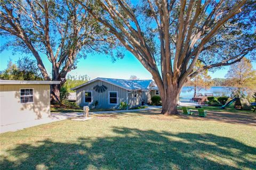
[[[149,106],[148,108],[145,109],[134,109],[134,110],[124,110],[124,111],[103,111],[103,112],[90,112],[90,114],[111,114],[111,113],[125,113],[125,112],[139,112],[139,111],[147,111],[151,109],[159,109],[161,106]],[[46,124],[46,123],[51,123],[51,122],[57,122],[57,121],[62,121],[67,118],[71,117],[77,117],[77,116],[82,116],[82,112],[73,112],[73,113],[51,113],[50,117],[45,117],[41,118],[39,120],[31,120],[31,121],[26,121],[26,122],[20,122],[20,123],[13,123],[13,124],[8,124],[8,125],[3,125],[0,128],[0,133],[4,132],[15,132],[18,130],[22,130],[25,128],[30,128],[33,126],[41,125],[41,124]]]

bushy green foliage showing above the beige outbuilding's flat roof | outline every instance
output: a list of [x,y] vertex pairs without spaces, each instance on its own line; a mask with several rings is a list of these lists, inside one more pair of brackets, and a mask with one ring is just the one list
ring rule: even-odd
[[0,72],[2,80],[43,80],[36,61],[29,57],[19,58],[16,64],[10,60],[7,69]]

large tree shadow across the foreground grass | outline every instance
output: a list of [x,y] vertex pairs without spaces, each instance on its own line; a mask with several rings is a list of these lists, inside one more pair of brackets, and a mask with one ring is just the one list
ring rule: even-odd
[[[253,169],[256,148],[213,134],[113,128],[113,137],[18,145],[1,169]],[[11,158],[18,160],[11,160]]]

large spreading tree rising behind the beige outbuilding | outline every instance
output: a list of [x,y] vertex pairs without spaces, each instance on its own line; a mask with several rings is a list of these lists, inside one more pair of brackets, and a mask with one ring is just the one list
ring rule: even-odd
[[[75,1],[6,0],[0,4],[0,33],[7,39],[2,48],[33,54],[44,80],[61,81],[52,85],[51,101],[59,102],[60,86],[79,58],[114,47],[113,36]],[[45,68],[47,59],[51,75]]]

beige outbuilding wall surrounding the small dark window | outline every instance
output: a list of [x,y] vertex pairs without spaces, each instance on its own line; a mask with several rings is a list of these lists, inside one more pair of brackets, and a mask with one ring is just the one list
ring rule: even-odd
[[[20,103],[20,89],[34,89],[34,103]],[[1,125],[35,120],[50,115],[50,85],[0,85]]]

